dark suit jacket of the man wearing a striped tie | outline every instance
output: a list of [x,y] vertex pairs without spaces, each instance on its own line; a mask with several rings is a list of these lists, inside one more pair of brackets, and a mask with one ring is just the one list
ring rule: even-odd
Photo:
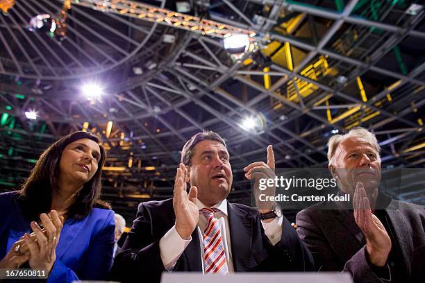
[[[165,271],[159,241],[176,221],[172,199],[139,205],[123,251],[115,257],[113,280],[131,282],[140,276],[159,282]],[[283,219],[282,239],[275,246],[267,239],[257,209],[228,203],[233,266],[240,271],[313,271],[313,258],[294,228]],[[202,271],[197,230],[178,259],[174,271]]]

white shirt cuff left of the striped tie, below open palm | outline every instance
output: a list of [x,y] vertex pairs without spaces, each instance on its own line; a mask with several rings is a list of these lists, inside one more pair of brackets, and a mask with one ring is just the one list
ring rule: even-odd
[[166,271],[172,271],[190,241],[192,241],[192,237],[185,240],[178,234],[176,225],[160,239],[160,254]]

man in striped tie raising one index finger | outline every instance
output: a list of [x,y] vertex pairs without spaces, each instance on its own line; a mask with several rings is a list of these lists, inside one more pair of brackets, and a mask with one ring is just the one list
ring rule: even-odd
[[[141,203],[123,251],[115,258],[113,280],[142,278],[159,282],[163,271],[225,275],[241,271],[311,271],[313,259],[281,209],[228,203],[233,181],[222,137],[199,132],[183,147],[174,197]],[[274,169],[272,146],[267,164],[245,167],[251,180]],[[259,175],[258,175],[259,174]],[[187,193],[187,183],[190,183]]]

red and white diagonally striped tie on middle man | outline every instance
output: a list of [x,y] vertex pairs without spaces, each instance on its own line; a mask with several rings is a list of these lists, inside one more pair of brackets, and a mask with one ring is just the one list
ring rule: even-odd
[[228,267],[222,231],[217,218],[214,216],[214,212],[219,212],[219,209],[204,207],[199,212],[208,220],[203,231],[203,267],[205,273],[226,275],[228,274]]

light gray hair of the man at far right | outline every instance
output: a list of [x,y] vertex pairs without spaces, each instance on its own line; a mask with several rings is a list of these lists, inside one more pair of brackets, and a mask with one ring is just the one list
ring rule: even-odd
[[347,139],[349,137],[360,137],[362,139],[366,139],[375,148],[379,157],[379,153],[381,152],[381,146],[379,146],[378,140],[376,139],[375,134],[373,132],[370,132],[369,130],[366,130],[365,128],[356,127],[356,128],[352,128],[345,135],[334,135],[329,139],[328,141],[328,162],[329,163],[331,163],[333,154],[335,153],[340,143],[344,139]]

